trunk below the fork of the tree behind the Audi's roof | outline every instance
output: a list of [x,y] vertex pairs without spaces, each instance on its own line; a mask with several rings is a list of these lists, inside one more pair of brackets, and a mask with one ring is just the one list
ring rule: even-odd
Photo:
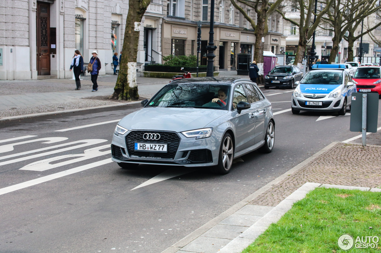
[[[259,68],[258,71],[258,78],[257,83],[258,84],[264,84],[263,79],[263,49],[264,49],[264,30],[265,30],[265,18],[266,17],[266,11],[263,11],[261,13],[258,13],[258,22],[257,27],[255,29],[254,35],[255,35],[255,50],[254,50],[254,60],[257,62],[257,66]],[[267,20],[266,20],[267,22]],[[263,41],[262,41],[263,40]]]

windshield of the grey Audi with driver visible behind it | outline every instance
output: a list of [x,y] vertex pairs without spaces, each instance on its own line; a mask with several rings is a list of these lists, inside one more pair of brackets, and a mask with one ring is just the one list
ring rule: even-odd
[[150,100],[147,107],[227,110],[229,94],[230,85],[168,84]]

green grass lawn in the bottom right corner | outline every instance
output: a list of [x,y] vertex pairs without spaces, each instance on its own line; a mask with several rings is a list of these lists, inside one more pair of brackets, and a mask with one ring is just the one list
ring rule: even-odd
[[378,248],[348,252],[381,252],[381,193],[316,188],[242,252],[345,252],[337,244],[342,234],[379,238]]

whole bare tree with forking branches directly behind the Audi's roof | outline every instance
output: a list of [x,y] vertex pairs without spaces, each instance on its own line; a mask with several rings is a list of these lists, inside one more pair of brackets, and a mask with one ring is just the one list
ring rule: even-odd
[[[257,62],[259,68],[259,78],[257,79],[259,83],[263,83],[263,48],[264,48],[264,37],[269,32],[269,27],[267,26],[267,19],[272,13],[279,7],[283,0],[276,0],[275,3],[269,3],[269,0],[230,0],[234,7],[243,14],[245,19],[250,22],[251,27],[254,29],[255,35],[255,49],[254,49],[254,60]],[[257,24],[251,19],[246,13],[245,9],[239,6],[241,3],[243,6],[247,6],[254,9],[257,14]]]

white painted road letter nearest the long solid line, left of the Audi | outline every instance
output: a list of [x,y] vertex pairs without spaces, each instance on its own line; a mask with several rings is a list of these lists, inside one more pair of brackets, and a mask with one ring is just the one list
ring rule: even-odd
[[[100,157],[102,155],[107,155],[107,154],[111,153],[111,150],[106,150],[103,152],[99,151],[102,149],[110,149],[110,145],[107,144],[107,145],[103,145],[100,147],[94,147],[91,149],[86,149],[85,151],[83,151],[83,154],[60,155],[58,157],[51,157],[51,158],[48,158],[45,160],[35,161],[34,163],[29,163],[29,164],[25,165],[21,169],[27,170],[27,171],[46,171],[48,169],[57,168],[57,167],[64,166],[67,164],[77,163],[79,161],[84,161],[84,160],[88,160],[88,159],[95,158],[95,157]],[[70,158],[70,157],[78,157],[78,158],[71,159],[68,161],[63,161],[61,163],[50,164],[53,161],[59,161],[59,160],[62,160],[65,158]]]

